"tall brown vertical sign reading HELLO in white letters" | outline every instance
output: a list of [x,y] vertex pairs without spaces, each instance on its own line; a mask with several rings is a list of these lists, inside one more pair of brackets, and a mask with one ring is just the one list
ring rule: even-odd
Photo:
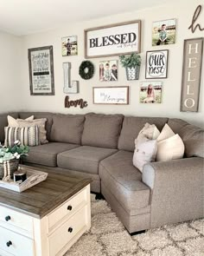
[[181,111],[198,112],[203,38],[184,40]]

